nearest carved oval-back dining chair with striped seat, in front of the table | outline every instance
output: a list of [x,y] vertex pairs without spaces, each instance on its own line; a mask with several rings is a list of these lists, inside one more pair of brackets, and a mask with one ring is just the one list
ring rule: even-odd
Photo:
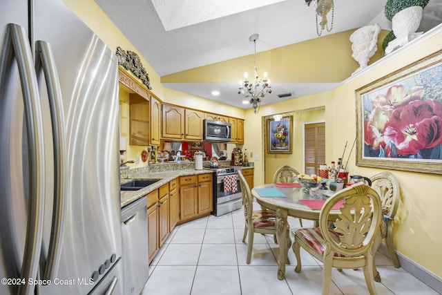
[[[329,215],[335,206],[339,207],[340,214],[330,227]],[[373,245],[380,235],[381,222],[381,198],[374,189],[361,183],[338,191],[323,205],[319,227],[291,231],[295,236],[292,248],[298,262],[295,272],[301,271],[302,247],[323,262],[323,294],[329,294],[332,267],[339,271],[362,267],[369,293],[377,294]]]

